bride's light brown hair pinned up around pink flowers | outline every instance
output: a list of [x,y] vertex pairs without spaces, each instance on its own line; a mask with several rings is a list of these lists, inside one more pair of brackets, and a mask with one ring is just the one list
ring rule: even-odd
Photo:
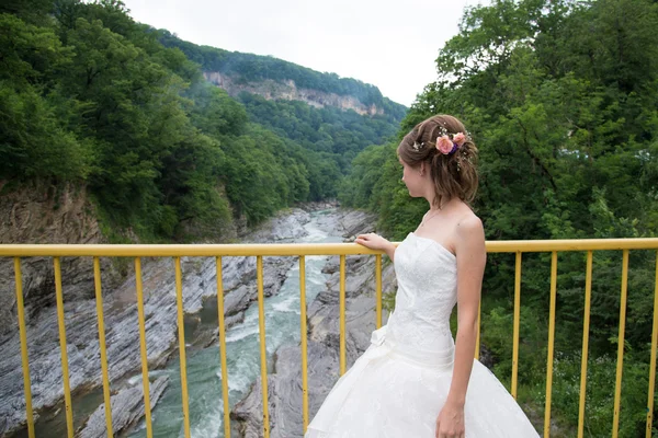
[[[463,132],[464,143],[453,153],[444,154],[436,149],[436,139]],[[441,207],[444,200],[460,198],[473,201],[477,192],[477,148],[464,124],[450,115],[435,115],[416,125],[397,148],[399,158],[412,168],[427,162],[434,183],[433,205]]]

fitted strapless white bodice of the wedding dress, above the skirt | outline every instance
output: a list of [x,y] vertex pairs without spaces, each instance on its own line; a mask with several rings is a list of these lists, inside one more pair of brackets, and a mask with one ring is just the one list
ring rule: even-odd
[[439,242],[409,233],[395,252],[398,289],[386,342],[422,362],[451,361],[450,315],[457,302],[456,257]]

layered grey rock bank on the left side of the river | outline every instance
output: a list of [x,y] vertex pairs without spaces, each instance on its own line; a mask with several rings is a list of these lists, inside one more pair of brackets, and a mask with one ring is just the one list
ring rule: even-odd
[[[317,207],[309,207],[307,210],[313,208]],[[292,209],[282,212],[263,223],[258,230],[243,237],[242,241],[245,243],[295,241],[304,233],[304,223],[308,221],[309,217],[307,210]],[[256,299],[256,261],[254,257],[225,258],[223,261],[223,278],[226,292],[227,325],[230,326],[243,318],[243,312]],[[265,295],[271,296],[277,292],[292,263],[291,257],[265,257]],[[150,370],[163,366],[171,354],[175,351],[178,328],[172,267],[173,264],[168,258],[144,261],[146,344]],[[186,314],[195,314],[202,309],[205,299],[216,295],[215,261],[214,258],[184,257],[182,269],[183,308]],[[127,378],[140,369],[134,273],[115,290],[105,290],[103,300],[112,392],[114,395],[120,395],[124,391],[125,394],[125,391],[132,388]],[[92,389],[98,389],[101,382],[95,301],[68,301],[65,290],[65,321],[71,391],[77,399],[81,399]],[[57,327],[55,308],[44,309],[29,320],[27,325],[33,407],[35,417],[53,417],[42,418],[39,423],[45,424],[56,422],[55,418],[61,416],[57,411],[59,411],[64,396],[59,338],[55,327]],[[0,338],[0,392],[2,393],[0,435],[2,436],[19,428],[25,422],[20,358],[18,333],[11,333]],[[134,402],[140,397],[139,392],[134,392],[131,400]],[[131,404],[133,402],[122,403]],[[86,403],[89,404],[89,402]],[[76,428],[86,424],[90,415],[89,411],[87,407],[84,412],[81,412],[73,404]],[[134,418],[128,420],[128,423],[134,422]],[[13,436],[21,436],[21,434],[16,433]]]

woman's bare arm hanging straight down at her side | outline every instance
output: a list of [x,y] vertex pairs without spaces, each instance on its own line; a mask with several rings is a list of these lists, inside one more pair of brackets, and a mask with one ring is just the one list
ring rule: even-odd
[[[457,336],[455,362],[447,400],[436,419],[436,436],[463,436],[466,389],[473,369],[477,336],[477,312],[483,275],[487,262],[485,232],[477,217],[457,224],[455,252],[457,256]],[[455,435],[451,435],[455,434]]]

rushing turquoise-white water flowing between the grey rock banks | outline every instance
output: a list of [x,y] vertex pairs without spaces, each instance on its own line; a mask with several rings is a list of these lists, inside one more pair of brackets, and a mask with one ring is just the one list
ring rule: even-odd
[[[311,215],[305,228],[308,235],[298,243],[341,242],[340,237],[328,235],[320,229],[317,218],[322,212]],[[306,257],[306,302],[309,304],[325,289],[327,275],[321,273],[326,256]],[[284,343],[299,342],[299,265],[287,273],[279,295],[265,299],[265,345],[268,364],[272,354]],[[234,406],[260,379],[260,344],[258,304],[254,302],[245,313],[245,321],[226,333],[227,372],[229,406]],[[224,437],[224,401],[222,400],[222,370],[218,345],[188,354],[188,391],[190,405],[190,429],[193,438]],[[162,370],[149,372],[155,378],[166,373],[169,387],[152,412],[154,437],[183,437],[182,397],[178,356],[169,360]],[[140,376],[134,378],[140,384]],[[299,408],[302,408],[299,406]],[[146,436],[144,420],[131,438]]]

